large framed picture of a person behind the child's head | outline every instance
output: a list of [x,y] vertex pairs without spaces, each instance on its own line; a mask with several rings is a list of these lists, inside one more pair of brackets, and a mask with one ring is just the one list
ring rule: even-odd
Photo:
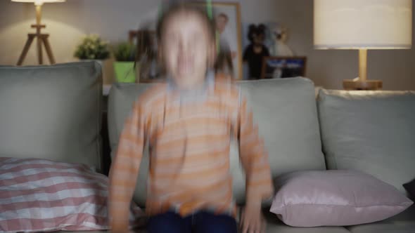
[[[205,2],[196,2],[206,7]],[[212,2],[217,29],[217,72],[242,79],[241,8],[237,2]]]

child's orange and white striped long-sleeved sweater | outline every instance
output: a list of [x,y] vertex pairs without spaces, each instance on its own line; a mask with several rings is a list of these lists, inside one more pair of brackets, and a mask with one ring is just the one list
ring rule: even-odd
[[182,216],[204,209],[235,215],[229,172],[231,136],[239,142],[247,200],[272,195],[263,142],[238,88],[207,78],[199,91],[158,84],[136,101],[110,171],[113,231],[127,229],[129,204],[143,147],[150,145],[146,213],[174,210]]

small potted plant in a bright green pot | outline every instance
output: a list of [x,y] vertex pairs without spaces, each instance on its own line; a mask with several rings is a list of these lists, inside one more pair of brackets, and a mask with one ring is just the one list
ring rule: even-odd
[[136,81],[136,46],[132,43],[122,42],[114,49],[115,79],[120,83],[134,83]]

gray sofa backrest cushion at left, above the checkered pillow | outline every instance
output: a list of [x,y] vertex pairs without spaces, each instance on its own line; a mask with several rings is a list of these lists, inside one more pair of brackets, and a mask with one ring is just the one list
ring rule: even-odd
[[0,157],[101,168],[101,66],[0,67]]

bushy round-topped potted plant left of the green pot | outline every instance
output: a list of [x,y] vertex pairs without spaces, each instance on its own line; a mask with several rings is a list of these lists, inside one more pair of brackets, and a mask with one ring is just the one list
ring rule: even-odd
[[108,58],[110,58],[110,46],[108,41],[103,41],[98,34],[88,34],[82,38],[74,53],[79,60],[95,60],[102,68],[103,83],[110,84],[109,76],[106,74]]

